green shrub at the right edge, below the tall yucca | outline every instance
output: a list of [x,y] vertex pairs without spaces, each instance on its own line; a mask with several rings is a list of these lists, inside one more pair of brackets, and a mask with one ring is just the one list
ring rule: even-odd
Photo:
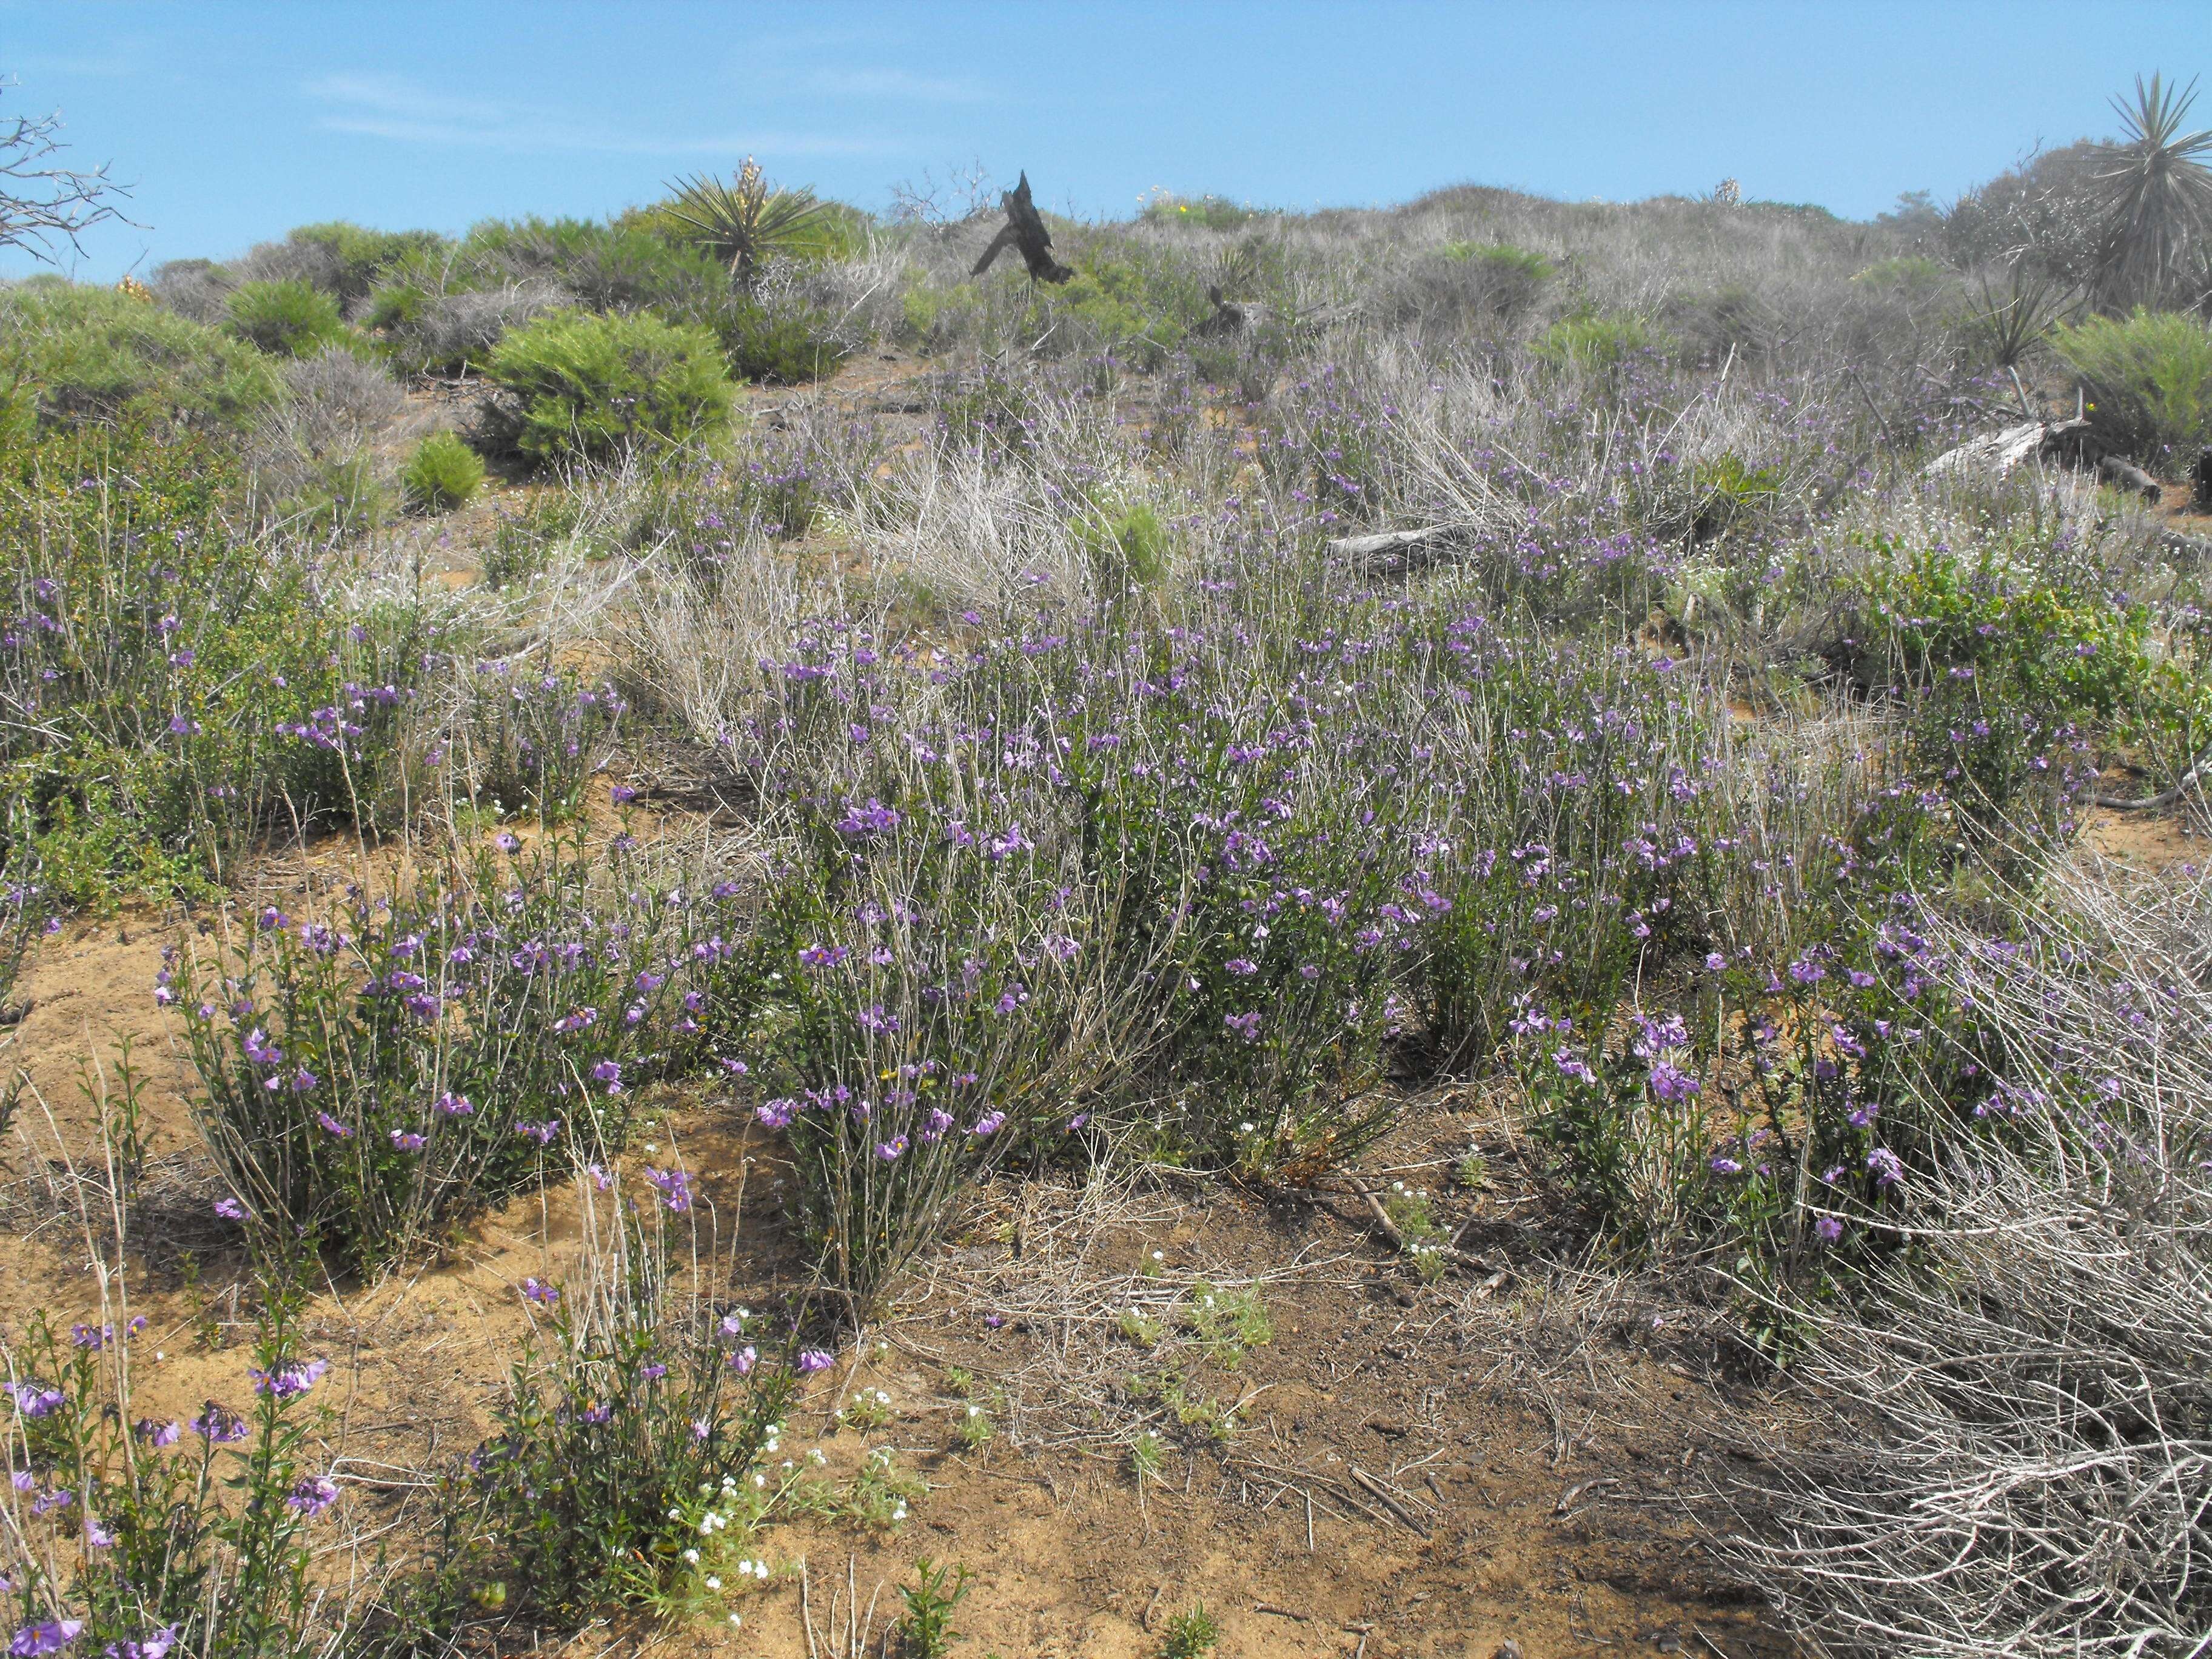
[[2212,445],[2212,323],[2137,310],[2059,327],[2055,345],[2110,447],[2179,471]]

